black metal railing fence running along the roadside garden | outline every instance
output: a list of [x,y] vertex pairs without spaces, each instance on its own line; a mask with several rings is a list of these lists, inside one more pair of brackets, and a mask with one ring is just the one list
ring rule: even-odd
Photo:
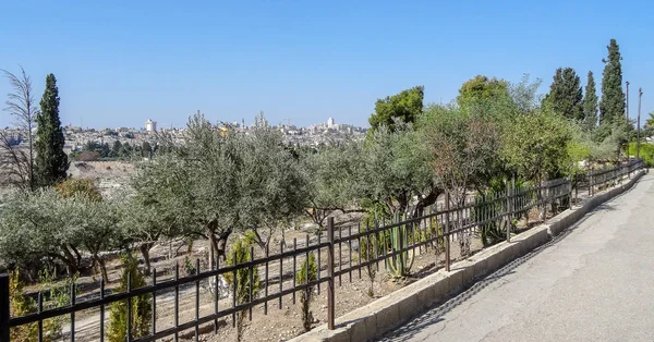
[[[282,297],[291,296],[295,302],[295,294],[301,291],[311,291],[316,289],[318,295],[322,288],[327,285],[327,323],[329,329],[334,329],[335,305],[337,292],[335,285],[341,285],[342,278],[352,281],[352,273],[359,278],[362,277],[362,270],[373,268],[379,270],[379,264],[384,264],[385,269],[393,271],[398,277],[409,272],[410,262],[416,255],[425,254],[428,251],[434,256],[435,265],[440,261],[446,270],[449,270],[452,261],[452,244],[456,243],[458,254],[455,257],[465,256],[471,253],[470,236],[477,235],[487,239],[488,244],[502,240],[510,241],[511,234],[519,233],[517,221],[530,219],[531,213],[537,213],[536,220],[544,220],[558,210],[571,207],[573,199],[579,198],[583,187],[588,187],[588,194],[602,190],[614,183],[619,183],[630,178],[631,174],[643,167],[641,160],[631,161],[614,168],[591,170],[573,178],[557,179],[543,184],[530,186],[517,186],[514,183],[507,183],[506,190],[494,193],[477,194],[474,198],[467,198],[461,205],[451,207],[453,203],[449,195],[446,195],[440,203],[427,208],[422,215],[414,218],[396,217],[393,220],[367,221],[355,225],[335,228],[334,218],[328,219],[326,236],[318,232],[316,239],[306,239],[303,246],[298,246],[298,241],[293,240],[292,247],[284,251],[284,242],[279,245],[279,252],[269,253],[266,248],[263,256],[254,257],[254,249],[251,249],[250,260],[232,266],[220,266],[214,270],[199,270],[199,260],[196,260],[195,274],[180,277],[179,265],[174,268],[172,277],[169,279],[157,279],[157,271],[152,274],[152,281],[148,285],[138,289],[126,289],[126,292],[107,294],[104,282],[100,283],[99,294],[95,297],[77,301],[75,295],[75,285],[71,285],[70,305],[58,308],[43,309],[44,296],[37,297],[38,310],[22,317],[10,317],[10,295],[9,277],[0,276],[0,341],[10,341],[10,329],[24,325],[37,325],[38,341],[44,341],[44,321],[55,317],[70,317],[70,341],[75,341],[75,314],[82,310],[99,309],[97,319],[99,320],[99,331],[93,340],[105,341],[106,339],[106,309],[113,303],[124,301],[128,307],[131,302],[138,296],[152,295],[152,326],[148,334],[133,337],[131,329],[131,319],[126,323],[126,341],[155,341],[166,337],[174,337],[178,340],[182,331],[194,330],[194,337],[197,341],[199,327],[211,323],[216,332],[219,325],[218,320],[231,316],[232,325],[235,325],[235,315],[247,313],[252,319],[252,309],[255,306],[263,306],[265,315],[268,314],[270,304],[282,308]],[[534,210],[537,209],[537,210]],[[468,242],[467,242],[468,241]],[[486,245],[486,244],[485,244]],[[468,248],[468,249],[467,249]],[[307,278],[302,284],[296,282],[298,265],[303,265],[314,254],[317,258],[317,274],[315,280]],[[444,260],[437,260],[443,257]],[[234,258],[235,260],[237,258]],[[284,271],[286,265],[286,271]],[[253,293],[252,280],[250,284],[249,301],[240,303],[237,301],[237,288],[239,270],[249,270],[249,274],[254,274],[254,269],[258,270],[261,285],[259,293]],[[289,268],[292,268],[289,271]],[[231,305],[220,306],[220,298],[225,297],[219,292],[218,285],[221,278],[231,274],[230,284]],[[201,315],[201,283],[206,284],[213,280],[215,293],[211,296],[209,313],[206,307],[205,313]],[[129,283],[129,281],[128,281]],[[194,317],[187,321],[180,321],[180,291],[194,295]],[[225,289],[222,289],[225,291]],[[158,295],[173,296],[172,323],[161,327],[158,323],[157,305],[161,304]],[[225,302],[225,301],[223,301]],[[206,304],[206,303],[205,303]],[[205,305],[206,306],[206,305]],[[131,313],[131,310],[128,310]]]

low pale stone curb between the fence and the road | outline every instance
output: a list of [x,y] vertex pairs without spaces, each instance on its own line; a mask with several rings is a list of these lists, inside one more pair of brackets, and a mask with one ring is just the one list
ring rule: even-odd
[[375,339],[407,322],[426,308],[444,303],[447,298],[472,285],[477,279],[545,244],[552,236],[560,234],[601,204],[631,188],[644,173],[645,171],[641,171],[627,183],[582,200],[578,206],[557,215],[546,224],[516,235],[510,243],[499,243],[465,260],[453,264],[450,272],[441,269],[366,306],[338,317],[335,330],[328,330],[327,325],[323,325],[290,341],[361,342]]

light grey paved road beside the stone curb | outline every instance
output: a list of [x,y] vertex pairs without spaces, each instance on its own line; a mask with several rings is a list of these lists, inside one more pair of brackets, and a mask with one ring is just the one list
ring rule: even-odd
[[383,341],[654,341],[654,173]]

